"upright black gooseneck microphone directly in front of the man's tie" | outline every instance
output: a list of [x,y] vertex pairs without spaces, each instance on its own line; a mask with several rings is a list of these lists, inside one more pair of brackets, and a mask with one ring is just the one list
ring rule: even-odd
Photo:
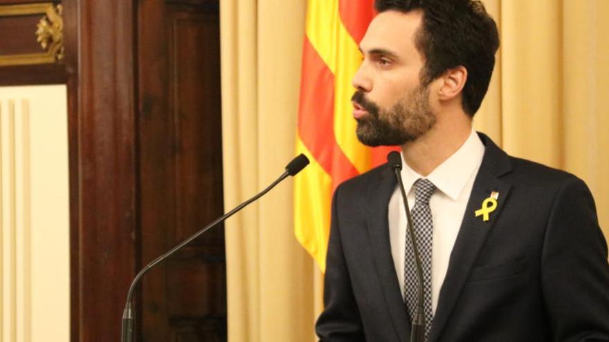
[[412,227],[412,217],[408,208],[408,199],[406,198],[406,190],[402,183],[401,169],[402,158],[396,151],[391,151],[387,155],[387,162],[395,173],[397,183],[399,184],[402,200],[404,202],[404,210],[406,210],[406,218],[408,219],[408,233],[410,234],[410,242],[412,250],[415,251],[415,265],[417,266],[417,312],[412,314],[412,330],[410,330],[410,341],[422,342],[425,339],[425,310],[423,307],[423,267],[421,266],[421,258],[419,258],[419,249],[417,249],[417,240],[415,240],[415,229]]

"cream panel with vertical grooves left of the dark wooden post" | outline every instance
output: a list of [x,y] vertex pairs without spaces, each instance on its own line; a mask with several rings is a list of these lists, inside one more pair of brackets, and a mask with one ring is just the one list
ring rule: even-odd
[[0,342],[69,341],[66,98],[0,88]]

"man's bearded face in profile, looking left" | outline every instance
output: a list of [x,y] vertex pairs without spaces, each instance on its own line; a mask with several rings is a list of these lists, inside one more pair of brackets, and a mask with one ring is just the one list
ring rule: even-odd
[[422,12],[382,12],[361,41],[364,60],[353,79],[358,139],[368,146],[401,145],[435,124],[428,86],[419,75],[424,60],[415,46]]

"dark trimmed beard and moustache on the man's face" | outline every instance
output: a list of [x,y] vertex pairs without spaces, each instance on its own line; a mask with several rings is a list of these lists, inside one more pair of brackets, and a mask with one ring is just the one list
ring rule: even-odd
[[368,115],[357,119],[356,134],[367,146],[403,145],[417,140],[435,124],[436,117],[429,105],[429,87],[417,86],[388,110],[356,91],[351,98]]

